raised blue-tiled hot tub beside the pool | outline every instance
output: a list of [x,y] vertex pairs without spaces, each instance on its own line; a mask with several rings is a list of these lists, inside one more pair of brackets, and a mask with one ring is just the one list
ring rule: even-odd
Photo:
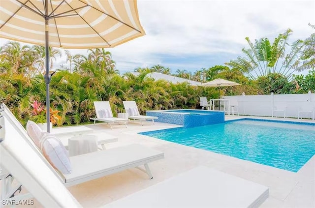
[[146,111],[147,116],[155,116],[157,122],[172,123],[185,127],[204,126],[224,122],[224,111],[208,110],[160,110]]

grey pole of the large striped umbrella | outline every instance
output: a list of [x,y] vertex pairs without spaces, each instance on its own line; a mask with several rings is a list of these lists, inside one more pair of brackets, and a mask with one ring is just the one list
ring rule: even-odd
[[[48,15],[48,0],[45,0],[45,13]],[[49,19],[45,17],[45,66],[46,73],[44,75],[46,83],[46,122],[47,122],[47,132],[50,133],[50,97],[49,97],[49,83],[51,76],[49,73]]]

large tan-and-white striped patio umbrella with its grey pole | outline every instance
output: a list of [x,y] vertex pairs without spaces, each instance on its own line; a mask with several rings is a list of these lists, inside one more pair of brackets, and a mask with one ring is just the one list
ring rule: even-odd
[[136,0],[0,0],[0,37],[46,47],[47,109],[49,46],[107,48],[142,35]]

